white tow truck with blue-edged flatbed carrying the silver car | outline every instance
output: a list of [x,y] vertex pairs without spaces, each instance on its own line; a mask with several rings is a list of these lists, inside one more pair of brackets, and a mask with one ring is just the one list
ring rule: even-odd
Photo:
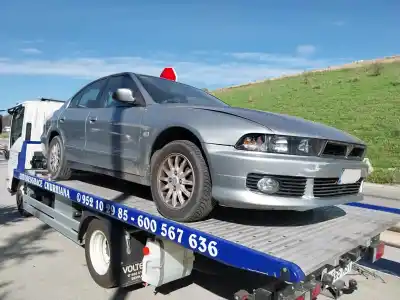
[[220,207],[207,220],[179,223],[160,215],[139,185],[85,172],[56,182],[39,138],[61,105],[41,98],[8,110],[7,189],[22,216],[84,247],[88,271],[103,288],[158,288],[193,269],[235,269],[265,278],[251,290],[238,286],[235,300],[314,300],[323,290],[339,298],[357,289],[344,277],[359,261],[380,259],[380,233],[400,221],[398,209],[358,202],[308,212]]

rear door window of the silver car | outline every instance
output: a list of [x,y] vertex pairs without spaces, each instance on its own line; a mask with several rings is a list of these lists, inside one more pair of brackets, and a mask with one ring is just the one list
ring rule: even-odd
[[73,106],[79,108],[100,108],[100,95],[105,82],[106,78],[103,78],[85,87],[81,92],[79,92],[78,95],[75,96],[77,99],[72,99]]

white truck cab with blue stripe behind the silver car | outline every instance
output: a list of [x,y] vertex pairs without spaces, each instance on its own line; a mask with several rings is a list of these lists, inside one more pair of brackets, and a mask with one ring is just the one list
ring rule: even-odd
[[[8,138],[9,162],[7,171],[7,189],[13,194],[18,182],[13,178],[14,169],[32,169],[32,159],[42,154],[40,136],[46,120],[65,102],[61,100],[39,98],[24,101],[7,110],[11,117],[11,129]],[[26,147],[26,151],[21,151]],[[25,157],[21,157],[24,153]],[[26,153],[26,154],[25,154]]]

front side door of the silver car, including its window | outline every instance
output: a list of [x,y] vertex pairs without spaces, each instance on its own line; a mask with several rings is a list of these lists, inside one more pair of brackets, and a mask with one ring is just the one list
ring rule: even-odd
[[[112,98],[118,88],[129,88],[135,104]],[[102,93],[103,107],[90,110],[87,120],[86,149],[98,157],[102,168],[139,175],[142,116],[144,100],[129,74],[114,75]]]

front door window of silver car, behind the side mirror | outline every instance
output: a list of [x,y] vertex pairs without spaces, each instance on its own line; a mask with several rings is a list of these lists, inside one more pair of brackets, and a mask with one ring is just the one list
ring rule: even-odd
[[143,103],[143,98],[133,79],[128,75],[118,75],[110,77],[107,87],[104,90],[104,107],[132,107],[132,104],[120,102],[112,98],[113,93],[120,88],[130,89],[137,103]]

